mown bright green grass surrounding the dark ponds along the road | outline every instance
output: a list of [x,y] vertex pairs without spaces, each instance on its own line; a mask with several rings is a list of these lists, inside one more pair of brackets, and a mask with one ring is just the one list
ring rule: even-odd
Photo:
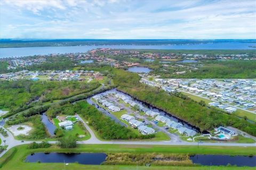
[[[25,163],[26,156],[34,152],[136,152],[136,153],[176,153],[176,154],[226,154],[226,155],[255,155],[255,147],[216,147],[216,146],[146,146],[146,145],[78,145],[74,149],[60,149],[55,145],[47,149],[27,149],[27,145],[16,147],[16,153],[10,157],[2,169],[64,169],[63,163]],[[3,157],[0,158],[0,164],[4,162],[8,155],[15,148],[7,151]],[[70,163],[65,166],[65,169],[137,169],[136,166],[128,165],[80,165],[77,163]],[[138,169],[210,169],[209,166],[138,166]],[[245,167],[226,167],[226,166],[212,166],[211,169],[245,169]],[[246,167],[246,169],[255,169],[254,167]]]

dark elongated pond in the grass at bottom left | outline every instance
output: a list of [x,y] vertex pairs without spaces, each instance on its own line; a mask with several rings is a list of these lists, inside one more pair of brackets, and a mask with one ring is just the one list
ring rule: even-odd
[[27,156],[26,162],[35,163],[75,163],[84,165],[100,165],[105,162],[107,155],[104,153],[81,153],[81,154],[66,154],[66,153],[35,153]]

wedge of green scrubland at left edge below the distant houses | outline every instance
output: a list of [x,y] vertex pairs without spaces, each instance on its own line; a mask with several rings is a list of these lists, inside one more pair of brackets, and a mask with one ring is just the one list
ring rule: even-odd
[[43,107],[47,101],[66,99],[90,92],[99,86],[100,84],[98,82],[1,81],[0,109],[8,108],[10,112],[4,115],[4,117],[8,117],[34,106]]

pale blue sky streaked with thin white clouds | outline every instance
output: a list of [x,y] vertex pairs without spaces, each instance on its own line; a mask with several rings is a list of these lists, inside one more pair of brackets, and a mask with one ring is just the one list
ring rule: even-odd
[[256,39],[256,1],[1,0],[0,38]]

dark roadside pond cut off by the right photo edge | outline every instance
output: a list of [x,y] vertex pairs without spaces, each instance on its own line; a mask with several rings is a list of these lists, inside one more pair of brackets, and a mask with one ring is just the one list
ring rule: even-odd
[[194,164],[220,166],[227,164],[236,166],[256,166],[256,156],[229,156],[229,155],[195,155],[190,156]]

